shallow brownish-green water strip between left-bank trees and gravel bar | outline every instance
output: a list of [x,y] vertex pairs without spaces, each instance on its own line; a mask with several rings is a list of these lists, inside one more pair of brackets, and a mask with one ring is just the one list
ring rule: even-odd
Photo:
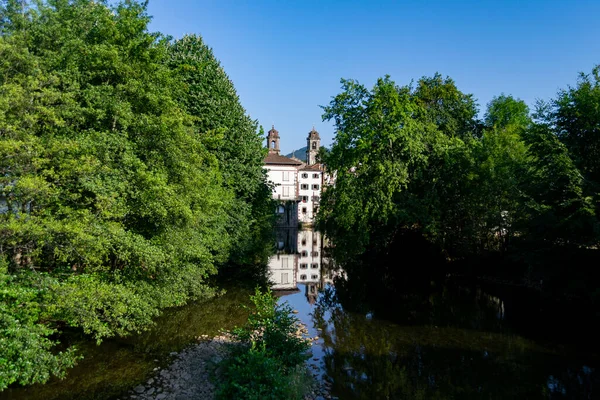
[[0,393],[2,399],[110,399],[144,382],[154,368],[164,366],[169,353],[180,351],[201,335],[215,336],[221,329],[242,325],[250,290],[229,288],[217,298],[170,309],[148,332],[129,338],[107,340],[96,346],[76,334],[64,340],[75,344],[84,359],[66,379],[45,385],[14,387]]

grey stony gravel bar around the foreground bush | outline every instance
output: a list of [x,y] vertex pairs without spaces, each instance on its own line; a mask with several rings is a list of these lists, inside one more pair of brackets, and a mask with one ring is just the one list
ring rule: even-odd
[[[213,372],[229,354],[232,341],[228,336],[198,337],[198,343],[173,357],[169,366],[155,368],[154,375],[144,384],[131,389],[120,397],[121,400],[212,400],[215,398],[215,385],[211,379]],[[314,373],[314,371],[311,371]],[[218,375],[218,374],[217,374]],[[316,374],[314,374],[316,376]],[[335,399],[329,394],[331,384],[315,381],[306,400]]]

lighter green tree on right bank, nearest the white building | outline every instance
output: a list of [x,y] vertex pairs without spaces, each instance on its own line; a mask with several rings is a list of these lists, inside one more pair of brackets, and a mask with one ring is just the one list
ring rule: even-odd
[[[394,226],[412,218],[412,210],[399,209],[397,197],[426,161],[426,140],[436,132],[413,117],[409,88],[389,77],[371,91],[352,80],[342,80],[342,89],[324,107],[323,118],[336,125],[331,152],[323,154],[336,184],[323,194],[319,219],[356,249],[377,242],[385,246]],[[375,232],[378,239],[372,240]]]

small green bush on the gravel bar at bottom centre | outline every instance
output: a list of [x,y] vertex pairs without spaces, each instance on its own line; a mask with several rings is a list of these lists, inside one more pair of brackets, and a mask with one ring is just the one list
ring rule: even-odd
[[310,386],[304,366],[309,344],[296,334],[298,319],[287,303],[259,289],[254,310],[233,331],[235,348],[221,364],[219,399],[302,399]]

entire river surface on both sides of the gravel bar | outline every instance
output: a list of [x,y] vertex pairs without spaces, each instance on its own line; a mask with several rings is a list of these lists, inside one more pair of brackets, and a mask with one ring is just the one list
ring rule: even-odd
[[[277,231],[272,288],[312,337],[310,368],[340,399],[600,398],[597,330],[515,288],[417,282],[390,271],[419,263],[337,265],[318,232]],[[344,268],[347,267],[347,268]],[[422,278],[422,277],[421,277]],[[422,280],[422,279],[421,279]],[[147,380],[169,353],[241,325],[250,291],[168,310],[155,327],[96,346],[65,380],[11,388],[2,399],[111,399]]]

